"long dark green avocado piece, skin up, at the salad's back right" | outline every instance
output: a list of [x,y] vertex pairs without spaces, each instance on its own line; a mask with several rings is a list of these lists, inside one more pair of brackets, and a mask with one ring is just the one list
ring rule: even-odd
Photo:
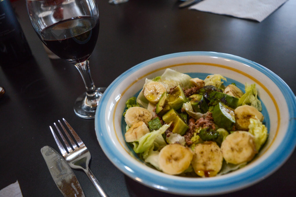
[[227,105],[230,108],[237,108],[237,103],[239,102],[239,98],[233,97],[222,92],[211,92],[209,95],[210,105],[217,105],[219,102]]

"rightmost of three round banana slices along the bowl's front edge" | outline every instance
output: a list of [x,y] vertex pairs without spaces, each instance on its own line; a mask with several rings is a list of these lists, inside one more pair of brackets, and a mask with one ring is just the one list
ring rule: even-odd
[[251,161],[257,153],[254,136],[246,131],[235,131],[222,142],[221,151],[227,163]]

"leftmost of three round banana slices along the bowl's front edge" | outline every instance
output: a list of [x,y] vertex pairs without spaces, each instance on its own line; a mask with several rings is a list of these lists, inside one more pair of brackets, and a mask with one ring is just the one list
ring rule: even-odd
[[169,144],[159,153],[159,168],[166,174],[184,172],[192,160],[192,151],[181,144]]

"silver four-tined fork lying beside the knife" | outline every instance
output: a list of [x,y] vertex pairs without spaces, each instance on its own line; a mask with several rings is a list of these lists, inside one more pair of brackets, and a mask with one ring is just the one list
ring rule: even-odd
[[64,135],[60,131],[57,124],[54,123],[54,126],[57,128],[57,131],[59,132],[59,135],[61,136],[67,150],[62,145],[61,141],[59,140],[59,138],[55,134],[52,127],[49,126],[50,130],[52,131],[52,135],[54,137],[54,140],[56,141],[57,146],[59,147],[59,150],[62,153],[62,156],[65,158],[65,160],[68,162],[68,164],[70,165],[71,168],[82,169],[86,173],[86,175],[89,177],[89,179],[91,180],[91,183],[94,185],[94,187],[99,192],[101,197],[108,197],[107,194],[102,189],[101,185],[99,184],[98,180],[96,180],[96,177],[94,177],[94,174],[89,169],[89,160],[91,158],[91,154],[90,154],[89,150],[86,148],[86,146],[84,145],[84,143],[82,142],[80,137],[77,135],[77,133],[74,131],[74,129],[65,120],[65,118],[63,118],[63,121],[67,125],[67,127],[68,127],[69,131],[71,132],[71,134],[73,135],[74,139],[76,140],[77,145],[74,142],[74,140],[72,139],[72,137],[69,135],[69,133],[67,132],[65,127],[62,125],[61,121],[58,120],[59,124],[61,125],[62,129],[64,130],[65,134],[67,135],[68,140],[70,141],[72,147],[67,142],[66,138],[64,137]]

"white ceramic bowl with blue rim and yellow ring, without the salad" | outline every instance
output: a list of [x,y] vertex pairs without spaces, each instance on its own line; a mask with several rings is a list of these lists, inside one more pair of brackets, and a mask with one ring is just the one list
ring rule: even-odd
[[[227,84],[256,83],[263,103],[262,113],[268,140],[247,166],[229,174],[209,178],[168,175],[141,161],[125,142],[123,112],[128,98],[135,96],[146,78],[160,76],[166,68],[204,79],[221,74]],[[148,187],[182,195],[212,195],[239,190],[255,184],[278,169],[296,145],[296,99],[287,84],[267,68],[250,60],[216,52],[182,52],[140,63],[115,79],[104,92],[96,110],[96,136],[110,161],[123,173]]]

